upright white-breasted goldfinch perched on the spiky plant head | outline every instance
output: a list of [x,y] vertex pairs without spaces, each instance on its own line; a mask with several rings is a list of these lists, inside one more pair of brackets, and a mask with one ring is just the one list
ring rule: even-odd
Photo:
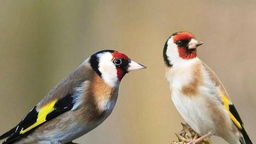
[[186,31],[175,32],[164,44],[165,77],[171,100],[182,118],[201,137],[212,135],[229,144],[252,144],[234,104],[216,73],[197,57],[204,42]]

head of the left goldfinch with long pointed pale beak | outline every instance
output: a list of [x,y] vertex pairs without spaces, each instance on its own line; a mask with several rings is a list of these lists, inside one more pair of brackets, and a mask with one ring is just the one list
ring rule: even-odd
[[93,54],[89,63],[92,69],[110,86],[116,86],[125,74],[132,70],[146,68],[115,50],[102,50]]

